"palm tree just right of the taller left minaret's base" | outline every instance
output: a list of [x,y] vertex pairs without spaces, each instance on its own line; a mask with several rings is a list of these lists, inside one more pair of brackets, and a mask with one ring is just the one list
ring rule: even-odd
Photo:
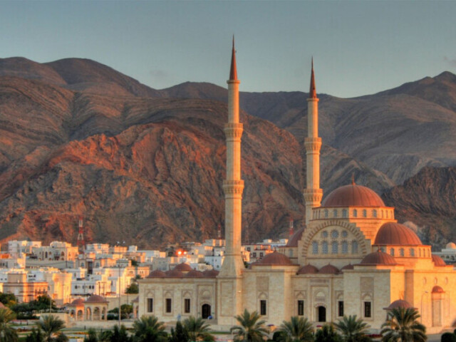
[[242,315],[234,318],[239,322],[239,326],[233,326],[230,331],[234,333],[234,341],[237,342],[261,342],[268,336],[268,329],[264,326],[264,321],[259,321],[257,311],[252,314],[244,310]]

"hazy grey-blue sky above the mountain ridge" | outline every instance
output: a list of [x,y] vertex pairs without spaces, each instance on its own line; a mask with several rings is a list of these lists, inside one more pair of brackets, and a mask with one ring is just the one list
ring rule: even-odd
[[377,93],[456,73],[456,1],[0,1],[0,58],[90,58],[155,89]]

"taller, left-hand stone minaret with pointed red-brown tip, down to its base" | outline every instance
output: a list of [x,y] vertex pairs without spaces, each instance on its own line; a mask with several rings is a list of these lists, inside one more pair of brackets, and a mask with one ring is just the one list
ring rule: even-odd
[[234,37],[228,83],[228,123],[224,126],[227,138],[227,179],[223,182],[225,194],[225,254],[222,269],[217,276],[217,319],[221,325],[234,325],[234,316],[241,314],[242,270],[241,256],[242,190],[241,136],[239,123],[239,80],[237,79]]

